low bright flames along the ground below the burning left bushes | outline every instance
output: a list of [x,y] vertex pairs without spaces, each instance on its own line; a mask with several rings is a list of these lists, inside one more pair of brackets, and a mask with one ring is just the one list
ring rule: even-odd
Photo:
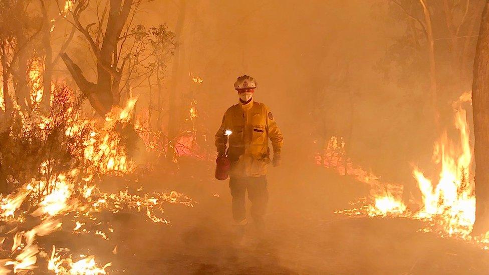
[[[43,169],[40,170],[42,171]],[[37,255],[40,253],[40,249],[35,243],[36,236],[45,236],[60,229],[62,223],[55,217],[67,212],[74,213],[76,222],[73,232],[79,232],[82,225],[86,225],[86,223],[80,222],[77,220],[78,218],[84,217],[87,221],[93,222],[96,220],[93,215],[103,209],[114,213],[122,209],[135,209],[138,212],[142,212],[144,209],[146,215],[153,222],[169,223],[166,219],[156,215],[156,212],[163,213],[163,202],[183,203],[193,206],[191,201],[185,201],[186,197],[183,194],[174,191],[168,195],[165,193],[154,193],[153,195],[144,194],[144,196],[139,196],[129,194],[128,190],[119,193],[103,193],[96,187],[85,184],[80,187],[80,190],[75,192],[75,184],[70,181],[77,178],[77,175],[77,171],[72,171],[66,175],[56,177],[56,180],[33,181],[21,187],[21,192],[11,194],[3,199],[2,205],[7,205],[8,207],[3,207],[0,214],[2,217],[10,218],[15,215],[16,210],[18,210],[27,196],[38,193],[42,198],[37,203],[38,208],[32,213],[33,216],[40,216],[42,222],[31,230],[15,232],[12,251],[13,254],[16,253],[18,255],[14,260],[6,259],[2,261],[3,266],[12,265],[14,272],[36,268]],[[40,190],[51,190],[51,193],[46,194]],[[74,197],[75,193],[90,194],[90,196],[85,197],[86,200],[78,200]],[[108,230],[114,232],[113,228],[109,227]],[[86,229],[81,231],[90,232]],[[105,240],[109,239],[102,230],[96,230],[94,234],[100,235]],[[82,259],[74,261],[71,256],[63,257],[55,250],[53,248],[48,265],[49,269],[57,274],[105,274],[105,268],[111,264],[107,263],[104,266],[99,266],[96,264],[94,256],[82,256]],[[0,270],[3,270],[2,268],[0,267]]]

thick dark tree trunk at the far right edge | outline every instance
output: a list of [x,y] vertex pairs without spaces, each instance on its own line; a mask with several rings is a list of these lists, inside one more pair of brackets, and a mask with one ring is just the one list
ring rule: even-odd
[[475,223],[472,234],[489,230],[489,0],[482,13],[474,60],[472,105],[475,156]]

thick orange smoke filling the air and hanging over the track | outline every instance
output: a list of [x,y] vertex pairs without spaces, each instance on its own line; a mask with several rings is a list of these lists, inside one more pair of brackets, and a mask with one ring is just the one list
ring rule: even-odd
[[[436,131],[450,124],[445,119],[452,117],[446,115],[452,111],[449,103],[467,90],[470,81],[447,73],[453,73],[445,62],[451,48],[438,46],[443,60],[439,90],[446,91],[440,93],[439,104],[448,107],[439,108],[442,118],[436,128],[426,49],[408,37],[422,37],[422,28],[412,27],[402,10],[391,4],[146,3],[134,23],[147,28],[168,24],[174,32],[176,49],[162,73],[164,100],[176,93],[178,117],[192,125],[199,146],[213,150],[222,115],[238,102],[233,83],[247,74],[258,81],[254,99],[270,108],[284,134],[283,165],[269,169],[266,232],[257,233],[251,224],[244,238],[236,236],[232,225],[228,183],[212,179],[214,164],[209,159],[181,158],[174,166],[157,163],[154,173],[139,172],[144,176],[140,182],[106,180],[104,188],[111,191],[121,184],[131,190],[144,185],[145,191],[177,190],[196,201],[191,210],[179,205],[165,208],[171,226],[148,225],[127,213],[113,218],[112,224],[120,229],[111,236],[118,243],[113,266],[123,266],[128,273],[446,273],[453,268],[484,272],[487,266],[475,259],[487,255],[433,235],[414,235],[422,228],[419,221],[348,220],[335,214],[351,208],[349,201],[368,196],[370,186],[316,165],[315,156],[331,136],[338,136],[344,138],[351,162],[385,182],[404,185],[405,190],[415,189],[410,163],[427,167],[427,174],[436,171],[429,170],[434,168],[430,158]],[[433,8],[433,18],[441,13]],[[435,30],[444,24],[433,20]],[[466,31],[468,26],[460,29]],[[66,22],[56,27],[53,40],[62,41],[58,30],[70,33],[71,27]],[[437,34],[437,41],[448,41],[446,32]],[[76,36],[68,51],[87,79],[96,81],[93,56],[84,43]],[[471,44],[467,45],[470,56]],[[61,62],[57,68],[65,70]],[[64,78],[69,84],[68,73]],[[146,84],[127,90],[139,96],[136,112],[151,108]],[[92,111],[88,104],[84,109]]]

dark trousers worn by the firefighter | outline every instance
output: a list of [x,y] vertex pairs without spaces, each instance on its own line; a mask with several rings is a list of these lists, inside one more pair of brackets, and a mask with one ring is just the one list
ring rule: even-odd
[[236,222],[246,219],[245,194],[252,202],[251,214],[255,222],[263,221],[267,210],[268,189],[267,176],[261,177],[231,177],[229,187],[232,196],[232,217]]

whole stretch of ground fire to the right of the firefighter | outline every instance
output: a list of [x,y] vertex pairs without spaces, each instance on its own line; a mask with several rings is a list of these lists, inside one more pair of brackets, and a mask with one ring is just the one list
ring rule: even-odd
[[[459,142],[448,138],[447,132],[443,132],[434,144],[433,163],[439,167],[439,178],[430,179],[423,171],[413,165],[413,176],[417,181],[422,194],[422,205],[417,211],[411,212],[402,201],[402,186],[385,184],[378,177],[365,175],[359,167],[354,167],[351,162],[342,163],[344,143],[342,139],[333,137],[328,143],[324,156],[325,162],[319,162],[327,167],[335,168],[339,173],[344,173],[344,167],[356,178],[371,185],[372,201],[361,198],[353,205],[360,205],[353,209],[340,210],[337,213],[349,216],[387,216],[404,217],[422,220],[427,227],[421,229],[425,232],[436,232],[442,237],[455,237],[463,240],[474,241],[489,249],[489,235],[478,237],[471,236],[475,221],[475,194],[474,182],[470,176],[472,166],[472,148],[470,147],[470,135],[466,112],[462,108],[463,103],[470,103],[470,93],[464,93],[459,100],[453,103],[454,126],[459,133]],[[323,157],[317,157],[317,161]],[[327,164],[327,165],[326,165]],[[366,180],[367,179],[367,180]],[[373,179],[373,180],[372,180]],[[438,180],[437,183],[436,180]]]

